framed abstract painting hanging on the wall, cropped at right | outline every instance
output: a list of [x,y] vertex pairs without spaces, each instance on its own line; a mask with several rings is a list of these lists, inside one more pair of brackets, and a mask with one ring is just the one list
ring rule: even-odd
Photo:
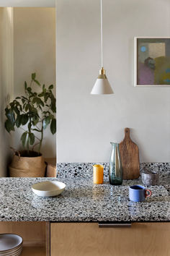
[[170,38],[135,38],[135,86],[170,86]]

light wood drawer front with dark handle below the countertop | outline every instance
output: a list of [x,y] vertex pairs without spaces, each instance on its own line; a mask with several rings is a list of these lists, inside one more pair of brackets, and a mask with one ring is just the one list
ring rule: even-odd
[[170,256],[170,223],[51,223],[51,256]]

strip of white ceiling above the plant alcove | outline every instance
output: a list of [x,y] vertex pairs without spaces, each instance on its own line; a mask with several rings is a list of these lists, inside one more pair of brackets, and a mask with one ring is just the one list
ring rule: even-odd
[[55,7],[55,0],[0,0],[0,7]]

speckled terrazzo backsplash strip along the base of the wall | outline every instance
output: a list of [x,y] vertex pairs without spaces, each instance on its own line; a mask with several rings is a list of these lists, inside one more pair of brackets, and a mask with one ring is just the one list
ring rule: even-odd
[[[91,178],[94,164],[97,163],[57,163],[57,176],[63,178]],[[99,164],[104,166],[104,179],[108,179],[109,163]],[[148,168],[150,171],[158,173],[170,172],[170,163],[140,163],[140,171],[142,168]]]

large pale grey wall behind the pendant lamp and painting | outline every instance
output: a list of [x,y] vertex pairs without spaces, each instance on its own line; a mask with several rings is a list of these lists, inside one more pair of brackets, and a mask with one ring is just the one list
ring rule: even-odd
[[99,0],[57,1],[58,162],[109,161],[124,128],[140,162],[170,161],[170,88],[133,87],[134,36],[170,36],[169,0],[104,0],[104,68],[114,95],[90,95],[100,68]]

